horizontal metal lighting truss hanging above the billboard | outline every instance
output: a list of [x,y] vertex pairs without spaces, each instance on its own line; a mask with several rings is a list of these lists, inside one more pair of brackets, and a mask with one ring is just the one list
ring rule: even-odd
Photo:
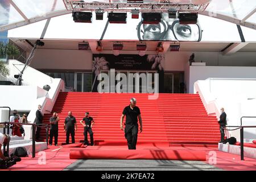
[[192,3],[106,3],[63,0],[65,7],[70,11],[131,11],[137,9],[141,12],[168,12],[169,9],[187,12],[203,12],[209,3],[193,5]]

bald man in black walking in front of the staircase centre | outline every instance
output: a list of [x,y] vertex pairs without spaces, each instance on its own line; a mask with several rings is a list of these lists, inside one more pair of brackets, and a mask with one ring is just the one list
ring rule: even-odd
[[130,99],[130,105],[123,109],[123,113],[120,119],[120,129],[123,130],[123,118],[126,115],[125,121],[125,138],[127,139],[127,145],[129,150],[135,150],[138,138],[138,118],[139,125],[141,125],[140,131],[142,133],[142,118],[139,107],[136,106],[136,99]]

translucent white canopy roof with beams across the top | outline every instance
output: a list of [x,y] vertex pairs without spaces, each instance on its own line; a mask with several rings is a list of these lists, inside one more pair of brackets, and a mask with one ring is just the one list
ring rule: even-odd
[[[129,4],[151,12],[166,11],[167,7],[170,6],[180,11],[197,11],[199,14],[213,16],[256,30],[255,0],[144,0],[143,3],[127,3],[127,0],[98,0],[97,2],[94,0],[0,0],[0,31],[72,13],[72,10],[77,9],[73,5],[79,3],[84,3],[81,6],[83,9],[80,10],[91,11],[97,10],[99,5],[105,11],[113,10],[118,4],[121,10],[129,11],[131,9],[128,7],[121,6],[121,4]],[[155,8],[153,10],[152,8],[148,9],[147,6],[152,7],[152,4]],[[159,4],[163,6],[158,6]],[[119,7],[118,10],[120,10]]]

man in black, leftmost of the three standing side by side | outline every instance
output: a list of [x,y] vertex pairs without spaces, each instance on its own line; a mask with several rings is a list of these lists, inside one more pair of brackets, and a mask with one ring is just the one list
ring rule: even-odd
[[52,114],[52,117],[49,118],[49,122],[50,122],[50,138],[49,138],[49,145],[51,146],[52,145],[52,138],[54,136],[54,144],[55,146],[57,146],[57,143],[58,143],[58,122],[59,122],[59,117],[57,115],[56,112],[54,112]]

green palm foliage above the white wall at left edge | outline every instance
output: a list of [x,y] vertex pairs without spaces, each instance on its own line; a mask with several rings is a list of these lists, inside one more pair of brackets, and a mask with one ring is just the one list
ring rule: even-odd
[[[19,54],[19,48],[13,43],[3,43],[0,42],[0,57],[13,57]],[[0,61],[0,75],[7,76],[9,75],[9,69],[6,67],[6,64],[3,61]]]

